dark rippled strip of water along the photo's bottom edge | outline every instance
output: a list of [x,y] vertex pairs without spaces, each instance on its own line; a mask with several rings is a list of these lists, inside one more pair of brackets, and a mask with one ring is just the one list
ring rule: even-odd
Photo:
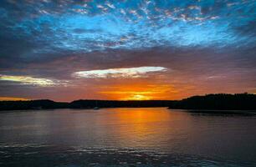
[[141,149],[59,147],[47,144],[0,144],[0,164],[15,166],[252,166],[190,154]]

